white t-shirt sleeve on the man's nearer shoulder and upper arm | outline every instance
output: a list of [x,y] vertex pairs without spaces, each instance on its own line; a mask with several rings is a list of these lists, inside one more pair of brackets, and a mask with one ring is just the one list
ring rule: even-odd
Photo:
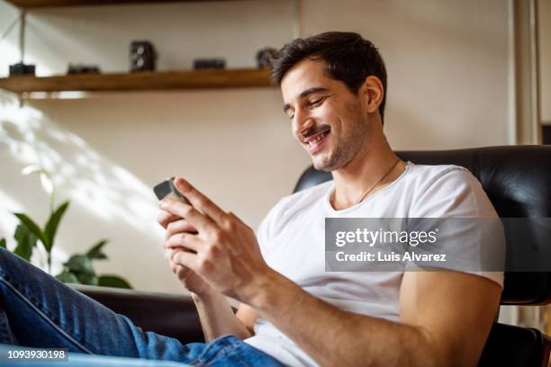
[[503,286],[504,235],[501,220],[482,184],[467,169],[450,166],[419,188],[410,218],[439,224],[438,267],[472,273]]

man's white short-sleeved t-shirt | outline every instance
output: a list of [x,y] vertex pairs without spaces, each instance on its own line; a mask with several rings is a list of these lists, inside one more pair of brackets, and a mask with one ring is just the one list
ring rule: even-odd
[[[325,272],[325,218],[498,217],[482,185],[460,166],[408,162],[393,183],[345,210],[330,205],[333,181],[277,202],[257,230],[266,263],[304,291],[350,312],[399,322],[402,272]],[[503,284],[501,272],[469,272]],[[290,366],[317,366],[264,319],[246,343]]]

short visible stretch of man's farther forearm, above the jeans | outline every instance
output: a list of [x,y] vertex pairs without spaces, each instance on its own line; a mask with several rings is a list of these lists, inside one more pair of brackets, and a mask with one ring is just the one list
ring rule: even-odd
[[231,334],[240,339],[250,336],[247,327],[235,316],[230,302],[224,295],[216,292],[209,292],[201,296],[192,293],[192,297],[207,342],[225,334]]

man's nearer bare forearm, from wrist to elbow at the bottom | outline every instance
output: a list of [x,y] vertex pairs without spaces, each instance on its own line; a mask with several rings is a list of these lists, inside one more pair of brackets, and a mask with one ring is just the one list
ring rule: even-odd
[[323,366],[430,366],[442,360],[420,328],[343,311],[279,274],[258,294],[251,306]]

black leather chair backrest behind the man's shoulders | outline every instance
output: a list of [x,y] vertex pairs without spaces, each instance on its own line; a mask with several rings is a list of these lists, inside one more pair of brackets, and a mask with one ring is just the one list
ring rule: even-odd
[[[399,151],[405,161],[418,165],[464,166],[482,183],[501,218],[551,217],[551,147],[510,146],[435,151]],[[310,166],[294,191],[331,180],[329,172]],[[534,228],[536,231],[537,228]],[[540,238],[537,246],[551,246]],[[507,246],[523,246],[511,243]],[[537,305],[551,301],[551,273],[505,273],[501,304]]]

